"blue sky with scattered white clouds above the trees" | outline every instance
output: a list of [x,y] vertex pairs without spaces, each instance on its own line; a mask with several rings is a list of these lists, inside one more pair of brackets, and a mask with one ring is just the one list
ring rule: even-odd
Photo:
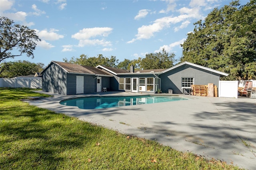
[[[180,44],[213,8],[231,0],[0,0],[0,15],[34,29],[34,59],[26,55],[5,61],[33,63],[63,58],[116,56],[137,59],[146,53],[173,52],[182,56]],[[241,0],[246,4],[249,0]]]

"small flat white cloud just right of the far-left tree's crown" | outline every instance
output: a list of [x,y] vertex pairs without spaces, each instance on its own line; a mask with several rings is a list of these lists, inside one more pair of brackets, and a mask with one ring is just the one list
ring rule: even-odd
[[58,32],[58,30],[55,29],[50,29],[48,30],[36,30],[37,35],[39,36],[39,38],[43,39],[43,40],[49,40],[49,41],[54,41],[54,40],[59,40],[60,38],[64,38],[63,35],[57,34],[56,32]]

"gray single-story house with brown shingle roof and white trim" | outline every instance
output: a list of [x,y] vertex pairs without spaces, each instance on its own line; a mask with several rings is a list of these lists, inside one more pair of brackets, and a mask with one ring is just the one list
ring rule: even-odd
[[217,85],[220,77],[228,74],[183,62],[168,69],[150,69],[130,71],[98,65],[83,66],[59,61],[51,61],[40,73],[43,77],[42,90],[62,95],[107,91],[129,91],[182,94],[184,88],[191,85]]

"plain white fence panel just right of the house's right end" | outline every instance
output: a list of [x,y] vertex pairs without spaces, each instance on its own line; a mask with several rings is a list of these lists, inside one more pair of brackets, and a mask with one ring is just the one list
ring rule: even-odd
[[219,97],[238,98],[238,81],[219,81]]

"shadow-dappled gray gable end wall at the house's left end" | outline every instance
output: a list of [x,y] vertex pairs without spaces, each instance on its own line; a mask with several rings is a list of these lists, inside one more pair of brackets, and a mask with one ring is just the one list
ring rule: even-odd
[[45,92],[66,95],[66,78],[66,71],[55,63],[52,63],[52,65],[44,71],[42,90]]

